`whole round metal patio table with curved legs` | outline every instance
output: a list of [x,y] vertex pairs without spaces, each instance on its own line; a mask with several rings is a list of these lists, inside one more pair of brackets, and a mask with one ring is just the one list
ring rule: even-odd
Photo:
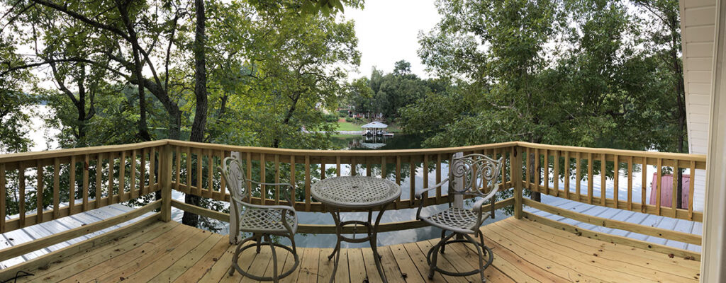
[[[335,280],[335,271],[338,270],[338,261],[340,261],[340,242],[370,242],[370,248],[373,251],[375,267],[383,282],[386,275],[383,274],[383,268],[380,264],[380,255],[378,255],[378,247],[376,244],[376,236],[378,234],[378,224],[386,211],[386,206],[393,203],[401,196],[401,187],[396,183],[387,179],[366,176],[340,176],[328,179],[322,179],[310,187],[310,193],[319,202],[323,203],[330,210],[335,221],[335,235],[338,241],[335,244],[335,250],[328,255],[330,261],[335,255],[335,264],[333,265],[333,274],[330,275],[330,282]],[[375,222],[372,222],[374,208],[378,208],[378,216]],[[340,221],[340,210],[362,210],[368,211],[368,221],[349,220]],[[355,235],[357,225],[367,227],[367,237],[350,238],[343,236],[343,227],[355,225],[353,233]]]

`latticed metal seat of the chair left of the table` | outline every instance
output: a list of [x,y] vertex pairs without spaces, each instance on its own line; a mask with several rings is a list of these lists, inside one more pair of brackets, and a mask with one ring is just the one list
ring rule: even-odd
[[[240,231],[242,232],[281,232],[287,234],[285,225],[282,224],[284,209],[274,208],[248,208],[240,217]],[[298,230],[298,219],[294,215],[285,214],[287,225],[293,229],[293,234]]]

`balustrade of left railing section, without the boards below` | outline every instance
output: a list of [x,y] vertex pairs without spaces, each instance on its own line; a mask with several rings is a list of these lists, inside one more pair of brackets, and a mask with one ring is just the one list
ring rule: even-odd
[[[0,232],[160,190],[158,172],[153,169],[166,143],[158,140],[0,155]],[[7,198],[9,186],[17,195]],[[38,194],[52,195],[51,202],[44,203],[46,198],[38,198]],[[15,211],[17,216],[7,219],[6,211]],[[35,213],[28,214],[30,211]]]

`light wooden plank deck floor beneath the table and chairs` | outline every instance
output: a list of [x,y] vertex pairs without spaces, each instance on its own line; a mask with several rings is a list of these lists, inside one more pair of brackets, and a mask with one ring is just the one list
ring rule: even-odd
[[[526,219],[497,221],[482,227],[494,263],[489,282],[698,282],[699,262],[649,250],[578,237]],[[380,247],[389,282],[476,282],[478,276],[436,274],[428,280],[425,253],[433,240]],[[473,269],[476,254],[465,245],[449,245],[440,258],[446,269]],[[81,250],[49,266],[32,266],[18,282],[251,282],[227,275],[234,246],[227,236],[171,222],[155,222],[105,245]],[[328,282],[330,248],[298,248],[300,267],[282,282]],[[343,249],[336,282],[380,282],[369,248]],[[281,252],[282,253],[282,252]],[[279,266],[293,262],[278,255]],[[242,253],[250,271],[269,274],[268,248]],[[5,279],[11,274],[1,274]],[[128,280],[128,281],[127,281]]]

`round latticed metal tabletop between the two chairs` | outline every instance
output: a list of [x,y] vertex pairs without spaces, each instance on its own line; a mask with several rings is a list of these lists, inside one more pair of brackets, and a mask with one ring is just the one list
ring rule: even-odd
[[387,179],[340,176],[322,179],[310,187],[316,200],[340,208],[370,208],[390,203],[401,196],[401,187]]

